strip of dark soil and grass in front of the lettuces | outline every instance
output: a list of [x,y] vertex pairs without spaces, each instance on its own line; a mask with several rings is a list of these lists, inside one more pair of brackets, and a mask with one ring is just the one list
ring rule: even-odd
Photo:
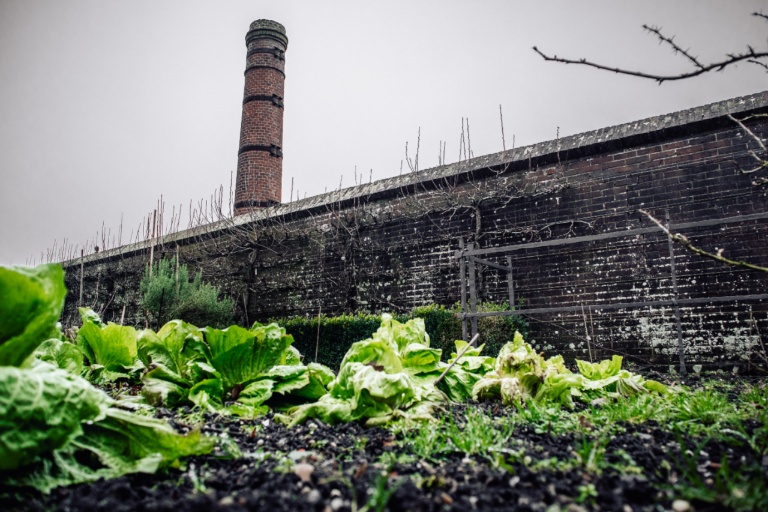
[[457,404],[416,429],[316,420],[288,428],[271,413],[244,421],[159,410],[182,432],[202,425],[228,441],[163,474],[59,488],[0,507],[766,510],[766,383],[691,379],[685,401],[636,396],[575,410]]

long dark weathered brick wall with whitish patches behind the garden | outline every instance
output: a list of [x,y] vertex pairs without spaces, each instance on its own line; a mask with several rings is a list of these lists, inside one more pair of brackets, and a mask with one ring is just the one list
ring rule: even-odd
[[[768,109],[768,93],[729,100],[468,162],[382,180],[223,221],[163,240],[172,255],[203,271],[236,299],[243,322],[288,315],[404,311],[460,299],[459,240],[480,248],[597,235],[652,224],[639,210],[675,224],[768,212],[766,190],[740,169],[754,164],[754,140],[725,114]],[[759,136],[768,123],[748,121]],[[527,308],[671,300],[670,254],[659,231],[510,252],[516,295]],[[686,230],[705,249],[768,263],[768,222]],[[122,252],[120,252],[122,251]],[[137,311],[137,272],[146,246],[86,264],[86,303],[108,319]],[[724,266],[674,247],[678,297],[766,293],[768,274]],[[506,254],[490,255],[504,263]],[[77,299],[78,266],[68,268]],[[99,287],[96,293],[96,286]],[[506,276],[478,268],[479,298],[507,300]],[[107,304],[107,302],[109,303]],[[690,364],[744,365],[768,332],[764,302],[680,307]],[[675,309],[577,310],[531,315],[530,339],[568,358],[626,355],[638,364],[676,364]]]

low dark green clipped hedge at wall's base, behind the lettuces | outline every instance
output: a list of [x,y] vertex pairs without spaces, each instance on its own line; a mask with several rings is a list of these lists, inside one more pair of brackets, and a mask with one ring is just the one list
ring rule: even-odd
[[[508,309],[506,304],[484,303],[478,306],[478,311],[503,311]],[[455,351],[454,341],[462,338],[461,320],[456,317],[458,308],[445,306],[424,306],[411,311],[407,315],[395,315],[395,319],[406,322],[411,318],[423,318],[431,346],[442,349],[443,360],[451,357]],[[381,317],[366,313],[340,316],[321,316],[318,338],[318,317],[273,318],[285,327],[288,334],[294,338],[293,346],[304,355],[304,362],[315,361],[338,370],[341,360],[349,347],[356,341],[370,338],[379,328]],[[490,316],[478,319],[479,343],[485,343],[483,353],[496,356],[499,349],[512,340],[515,331],[527,334],[528,324],[520,315]],[[317,358],[315,358],[317,353]]]

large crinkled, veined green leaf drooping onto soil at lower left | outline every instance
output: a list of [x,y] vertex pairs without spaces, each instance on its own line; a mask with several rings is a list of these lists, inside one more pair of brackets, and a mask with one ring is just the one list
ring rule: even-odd
[[210,438],[111,407],[85,379],[46,363],[0,367],[0,484],[43,492],[208,453]]

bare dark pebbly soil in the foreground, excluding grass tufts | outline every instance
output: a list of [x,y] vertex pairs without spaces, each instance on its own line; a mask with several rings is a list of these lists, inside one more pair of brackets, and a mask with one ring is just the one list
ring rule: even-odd
[[[688,384],[688,382],[686,382]],[[461,421],[468,408],[488,414],[510,414],[496,405],[467,404],[452,409]],[[189,411],[182,411],[189,413]],[[184,415],[167,410],[158,415],[180,430],[187,429]],[[626,431],[611,439],[608,463],[621,463],[621,451],[640,467],[637,474],[604,469],[601,474],[583,469],[539,467],[531,461],[510,461],[506,468],[492,457],[451,454],[435,462],[413,460],[381,464],[382,454],[407,453],[398,439],[382,428],[358,424],[328,426],[310,421],[287,429],[272,415],[254,421],[207,417],[203,432],[229,437],[244,454],[230,458],[226,450],[188,459],[181,469],[161,475],[130,475],[89,485],[60,488],[49,496],[29,496],[21,502],[0,502],[0,509],[61,511],[363,511],[456,510],[493,511],[659,511],[672,510],[672,496],[665,489],[685,460],[680,439],[655,422],[625,425]],[[756,426],[753,426],[756,427]],[[226,435],[225,435],[226,434]],[[574,458],[577,434],[555,436],[517,427],[511,448],[524,448],[537,460]],[[685,443],[688,445],[689,443]],[[754,461],[748,447],[710,442],[695,461],[707,478],[723,457],[735,466]],[[610,464],[609,464],[610,465]],[[768,474],[765,475],[768,485]],[[589,491],[585,495],[585,491]],[[696,512],[724,510],[693,502]]]

